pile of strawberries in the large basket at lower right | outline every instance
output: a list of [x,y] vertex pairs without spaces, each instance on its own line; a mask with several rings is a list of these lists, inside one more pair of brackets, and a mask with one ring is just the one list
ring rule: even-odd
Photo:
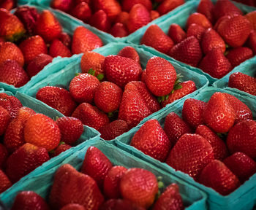
[[222,195],[255,174],[256,121],[246,104],[216,92],[207,103],[184,101],[182,118],[171,112],[164,128],[148,120],[130,144]]

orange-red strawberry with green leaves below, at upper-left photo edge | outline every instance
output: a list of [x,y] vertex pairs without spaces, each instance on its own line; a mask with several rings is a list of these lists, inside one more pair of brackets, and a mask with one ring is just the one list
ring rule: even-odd
[[6,41],[18,41],[25,34],[26,30],[20,20],[7,11],[0,8],[0,36]]

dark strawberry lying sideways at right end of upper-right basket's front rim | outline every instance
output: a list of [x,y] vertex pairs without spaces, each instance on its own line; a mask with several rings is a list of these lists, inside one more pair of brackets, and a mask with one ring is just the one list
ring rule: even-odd
[[236,47],[227,53],[226,58],[233,67],[236,67],[247,59],[252,58],[252,56],[253,52],[248,47]]

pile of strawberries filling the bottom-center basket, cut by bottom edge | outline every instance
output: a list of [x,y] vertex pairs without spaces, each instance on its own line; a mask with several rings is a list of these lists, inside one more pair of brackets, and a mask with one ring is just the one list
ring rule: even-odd
[[23,191],[16,196],[12,210],[31,206],[41,210],[184,209],[178,185],[170,184],[162,194],[161,185],[151,171],[113,166],[97,147],[91,146],[80,172],[69,164],[56,171],[48,204],[37,193]]

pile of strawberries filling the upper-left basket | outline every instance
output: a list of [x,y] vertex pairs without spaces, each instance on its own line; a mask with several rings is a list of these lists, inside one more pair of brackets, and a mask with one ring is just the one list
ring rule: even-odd
[[[15,43],[12,43],[15,42]],[[79,26],[73,37],[49,10],[18,7],[14,15],[0,9],[0,82],[19,88],[57,56],[94,50],[102,40]],[[25,70],[26,69],[26,70]]]

